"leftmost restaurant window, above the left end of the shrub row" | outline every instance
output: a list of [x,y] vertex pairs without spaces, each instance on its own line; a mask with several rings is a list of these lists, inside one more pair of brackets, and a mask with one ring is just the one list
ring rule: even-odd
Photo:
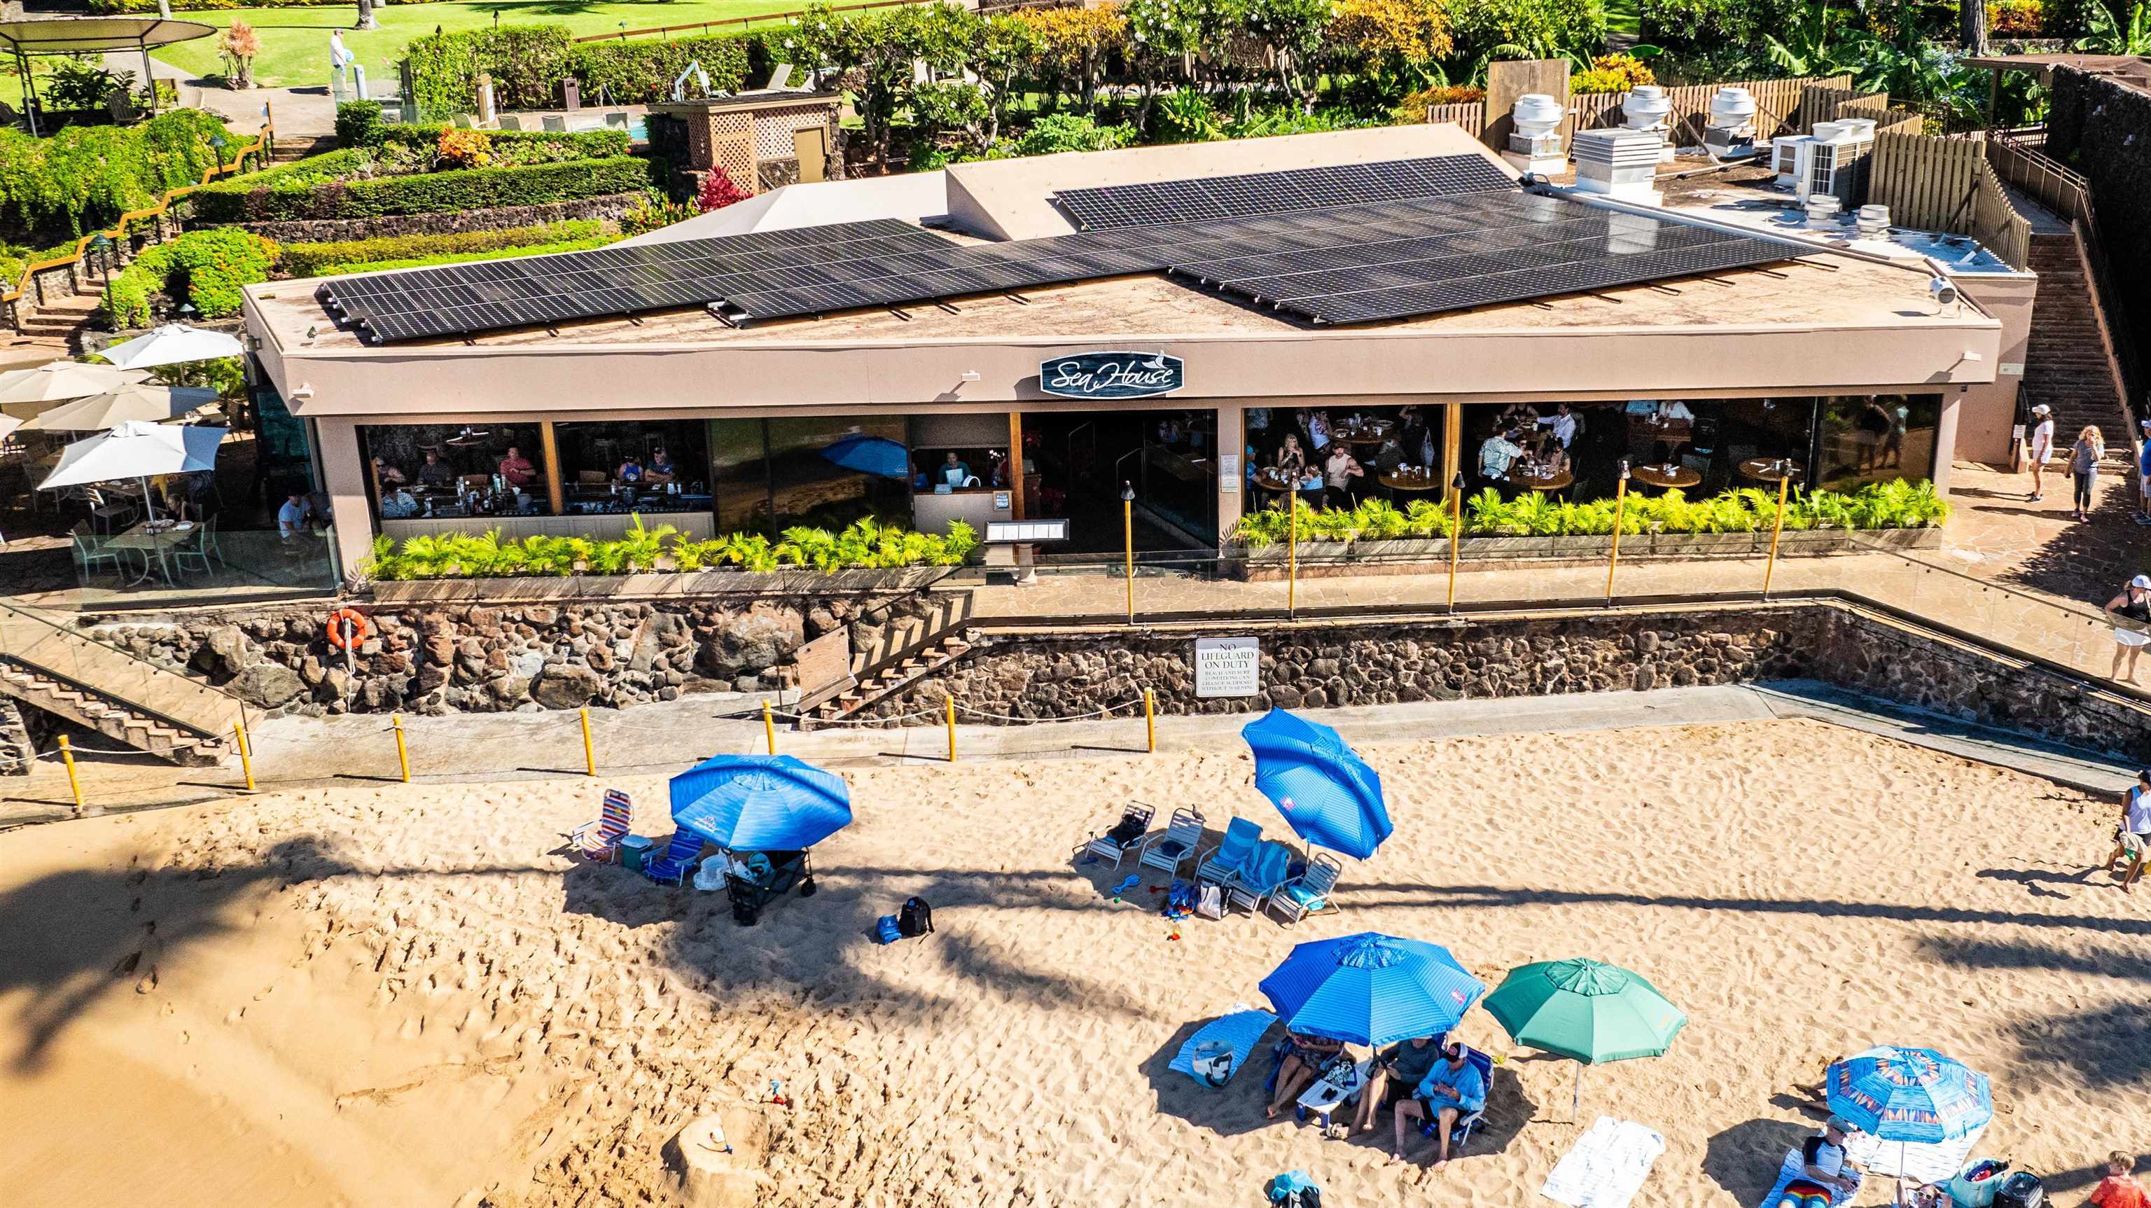
[[374,518],[551,516],[536,423],[359,428]]

